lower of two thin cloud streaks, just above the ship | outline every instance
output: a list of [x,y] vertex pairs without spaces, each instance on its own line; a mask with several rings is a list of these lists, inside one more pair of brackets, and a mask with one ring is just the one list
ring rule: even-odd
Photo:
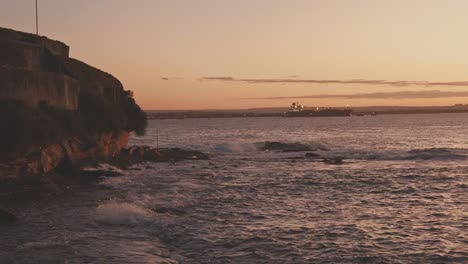
[[283,100],[283,99],[429,99],[429,98],[452,98],[452,97],[468,97],[468,91],[400,91],[388,93],[357,93],[357,94],[318,94],[318,95],[303,95],[303,96],[285,96],[285,97],[254,97],[243,98],[247,100]]

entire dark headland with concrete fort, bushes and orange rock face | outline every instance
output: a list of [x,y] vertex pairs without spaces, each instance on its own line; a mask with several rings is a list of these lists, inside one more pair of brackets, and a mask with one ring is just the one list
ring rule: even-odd
[[0,28],[0,178],[116,156],[146,127],[132,95],[66,44]]

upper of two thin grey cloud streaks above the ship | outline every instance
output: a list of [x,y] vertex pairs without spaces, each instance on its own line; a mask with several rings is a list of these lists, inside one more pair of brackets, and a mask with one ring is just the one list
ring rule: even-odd
[[234,77],[202,77],[199,81],[245,82],[253,84],[262,83],[309,83],[309,84],[367,84],[391,86],[468,86],[468,81],[459,82],[429,82],[429,81],[387,81],[387,80],[311,80],[311,79],[237,79]]

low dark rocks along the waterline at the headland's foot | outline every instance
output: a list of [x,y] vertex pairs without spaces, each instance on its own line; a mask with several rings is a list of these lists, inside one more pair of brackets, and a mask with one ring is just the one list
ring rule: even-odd
[[151,148],[132,146],[124,148],[114,157],[84,159],[79,163],[69,163],[44,175],[30,175],[0,179],[0,224],[16,223],[18,218],[12,211],[13,204],[28,203],[68,192],[95,182],[100,177],[122,176],[121,172],[102,169],[101,164],[109,164],[119,170],[129,170],[142,163],[180,162],[184,160],[207,160],[211,155],[197,150],[180,148]]

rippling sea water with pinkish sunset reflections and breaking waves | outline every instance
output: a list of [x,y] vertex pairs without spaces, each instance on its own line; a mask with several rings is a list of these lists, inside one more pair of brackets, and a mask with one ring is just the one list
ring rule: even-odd
[[0,262],[468,262],[468,114],[154,120],[130,143],[214,156],[22,202]]

